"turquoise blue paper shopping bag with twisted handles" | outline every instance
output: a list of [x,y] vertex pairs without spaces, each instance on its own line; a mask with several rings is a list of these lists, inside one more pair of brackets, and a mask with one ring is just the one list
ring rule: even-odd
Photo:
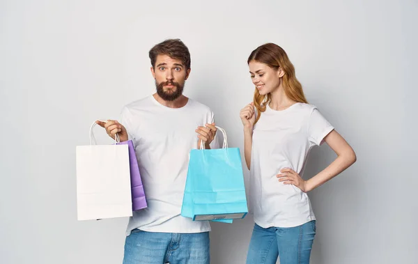
[[181,215],[193,220],[232,222],[247,215],[244,176],[239,148],[228,148],[226,132],[224,146],[219,149],[190,151],[189,168]]

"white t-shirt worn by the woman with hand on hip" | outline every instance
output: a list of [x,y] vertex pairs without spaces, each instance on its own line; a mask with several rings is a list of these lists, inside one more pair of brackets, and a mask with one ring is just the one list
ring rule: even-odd
[[290,168],[302,177],[309,150],[332,130],[311,104],[283,111],[266,106],[254,125],[251,149],[250,204],[258,226],[294,227],[315,219],[308,195],[279,182],[277,174]]

